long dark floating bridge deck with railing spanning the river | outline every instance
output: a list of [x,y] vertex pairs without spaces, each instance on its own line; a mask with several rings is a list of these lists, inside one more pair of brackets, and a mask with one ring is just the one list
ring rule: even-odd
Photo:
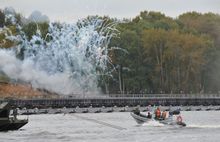
[[[4,101],[4,100],[1,100]],[[27,99],[13,100],[13,104],[18,107],[113,107],[113,106],[199,106],[199,105],[220,105],[220,95],[173,95],[173,94],[136,94],[121,95],[114,94],[102,97],[82,97],[82,98],[56,98],[56,99]]]

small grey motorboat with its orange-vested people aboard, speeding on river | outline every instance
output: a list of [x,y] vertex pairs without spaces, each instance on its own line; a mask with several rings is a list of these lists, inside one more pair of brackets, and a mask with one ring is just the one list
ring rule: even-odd
[[138,124],[148,123],[150,121],[157,121],[164,125],[176,125],[183,127],[186,126],[186,123],[183,122],[183,118],[180,115],[179,110],[169,111],[169,112],[163,111],[161,113],[157,109],[155,113],[148,112],[148,114],[146,115],[140,112],[138,109],[136,109],[130,114]]

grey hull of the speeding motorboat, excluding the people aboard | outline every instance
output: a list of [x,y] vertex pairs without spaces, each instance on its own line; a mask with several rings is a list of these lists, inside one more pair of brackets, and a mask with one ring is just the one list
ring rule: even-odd
[[179,125],[179,126],[186,126],[186,123],[183,122],[181,115],[169,115],[167,118],[165,119],[155,119],[155,117],[147,117],[146,115],[143,115],[142,113],[140,114],[135,114],[134,112],[130,113],[131,116],[134,118],[134,120],[138,123],[138,124],[143,124],[143,123],[147,123],[150,122],[152,120],[154,121],[158,121],[161,124],[165,124],[165,125]]

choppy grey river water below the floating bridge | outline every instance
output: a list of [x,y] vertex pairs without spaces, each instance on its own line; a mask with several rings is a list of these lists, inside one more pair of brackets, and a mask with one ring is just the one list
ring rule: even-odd
[[0,140],[1,142],[219,141],[219,112],[191,111],[182,112],[182,115],[187,123],[185,128],[161,125],[157,122],[137,125],[128,112],[31,115],[29,124],[19,131],[0,133]]

